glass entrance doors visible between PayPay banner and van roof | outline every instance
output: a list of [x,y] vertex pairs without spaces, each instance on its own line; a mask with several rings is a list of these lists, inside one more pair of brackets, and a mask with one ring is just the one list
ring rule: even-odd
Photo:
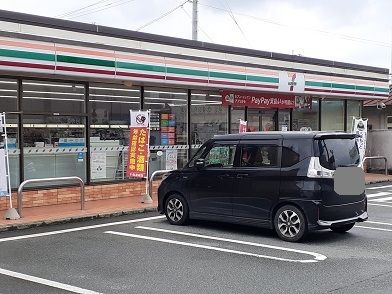
[[276,109],[249,109],[248,131],[275,131],[277,113]]

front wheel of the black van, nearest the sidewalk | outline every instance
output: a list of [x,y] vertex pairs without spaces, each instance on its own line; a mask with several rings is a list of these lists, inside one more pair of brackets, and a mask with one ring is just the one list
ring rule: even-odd
[[179,194],[170,195],[166,199],[165,215],[172,225],[184,225],[188,221],[188,203]]

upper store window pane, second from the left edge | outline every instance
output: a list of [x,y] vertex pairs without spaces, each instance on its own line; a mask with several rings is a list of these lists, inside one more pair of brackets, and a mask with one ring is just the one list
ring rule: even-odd
[[24,113],[84,113],[84,85],[63,82],[23,81]]

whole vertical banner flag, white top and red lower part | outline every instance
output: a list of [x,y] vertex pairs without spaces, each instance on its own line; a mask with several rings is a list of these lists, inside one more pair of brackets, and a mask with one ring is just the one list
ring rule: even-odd
[[149,112],[131,111],[127,177],[147,176],[149,152]]

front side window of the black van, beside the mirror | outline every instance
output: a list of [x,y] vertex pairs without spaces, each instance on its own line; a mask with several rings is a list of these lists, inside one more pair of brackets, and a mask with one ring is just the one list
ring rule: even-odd
[[206,167],[232,167],[234,163],[235,151],[237,146],[234,144],[215,144],[206,154]]

